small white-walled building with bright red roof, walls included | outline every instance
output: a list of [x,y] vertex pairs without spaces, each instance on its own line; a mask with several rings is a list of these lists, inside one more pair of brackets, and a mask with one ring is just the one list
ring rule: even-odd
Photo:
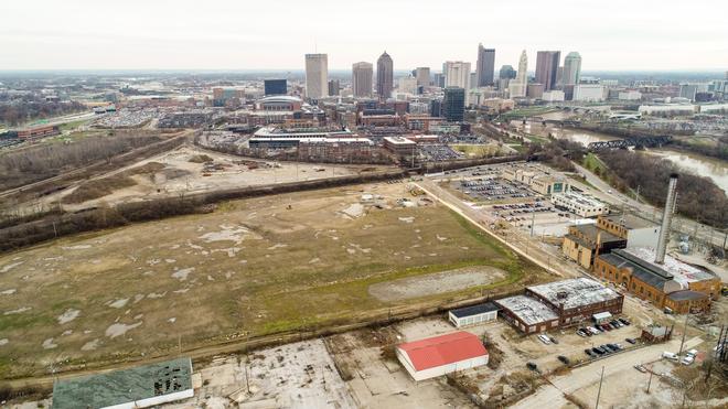
[[397,358],[415,380],[424,380],[485,365],[488,351],[478,336],[459,331],[400,344]]

